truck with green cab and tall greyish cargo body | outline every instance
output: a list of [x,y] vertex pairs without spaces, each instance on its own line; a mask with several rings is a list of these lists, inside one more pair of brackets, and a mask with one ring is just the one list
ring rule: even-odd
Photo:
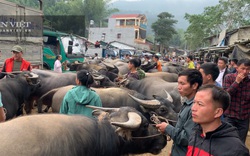
[[[12,57],[14,45],[23,48],[23,57],[32,68],[54,68],[56,56],[65,64],[84,61],[84,39],[43,26],[42,1],[40,10],[0,1],[0,68],[6,58]],[[63,70],[67,70],[64,66]]]

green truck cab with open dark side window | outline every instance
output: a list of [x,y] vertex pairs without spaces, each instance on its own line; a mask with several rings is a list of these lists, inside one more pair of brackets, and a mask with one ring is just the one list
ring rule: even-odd
[[[52,70],[57,55],[62,56],[63,64],[84,61],[85,40],[74,34],[68,34],[53,29],[43,30],[43,68]],[[66,71],[66,66],[63,71]]]

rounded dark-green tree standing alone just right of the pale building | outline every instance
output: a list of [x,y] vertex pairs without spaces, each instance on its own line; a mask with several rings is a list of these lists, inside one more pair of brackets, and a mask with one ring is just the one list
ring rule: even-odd
[[174,20],[174,16],[168,12],[162,12],[157,17],[158,20],[151,26],[155,33],[155,41],[159,42],[161,47],[168,47],[172,36],[176,34],[174,24],[177,20]]

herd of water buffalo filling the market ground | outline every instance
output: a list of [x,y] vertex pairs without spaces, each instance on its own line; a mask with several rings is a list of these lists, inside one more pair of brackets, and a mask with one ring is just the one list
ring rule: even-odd
[[[91,89],[103,105],[93,107],[98,120],[58,113],[64,95],[76,85],[75,72],[33,69],[10,73],[9,78],[0,80],[9,120],[0,126],[1,155],[116,156],[161,152],[167,144],[166,136],[150,119],[156,115],[175,124],[183,100],[177,90],[177,73],[182,67],[163,65],[163,72],[146,72],[144,79],[128,78],[119,84],[115,79],[129,71],[121,60],[70,66],[70,70],[81,69],[89,70],[95,80]],[[41,114],[29,115],[35,108]],[[53,113],[46,113],[51,108]],[[23,110],[28,115],[17,117]]]

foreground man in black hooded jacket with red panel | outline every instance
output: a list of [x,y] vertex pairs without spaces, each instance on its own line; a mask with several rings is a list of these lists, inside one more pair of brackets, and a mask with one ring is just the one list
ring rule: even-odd
[[249,156],[237,129],[220,119],[229,103],[230,95],[215,85],[198,90],[191,109],[198,125],[190,137],[187,156]]

